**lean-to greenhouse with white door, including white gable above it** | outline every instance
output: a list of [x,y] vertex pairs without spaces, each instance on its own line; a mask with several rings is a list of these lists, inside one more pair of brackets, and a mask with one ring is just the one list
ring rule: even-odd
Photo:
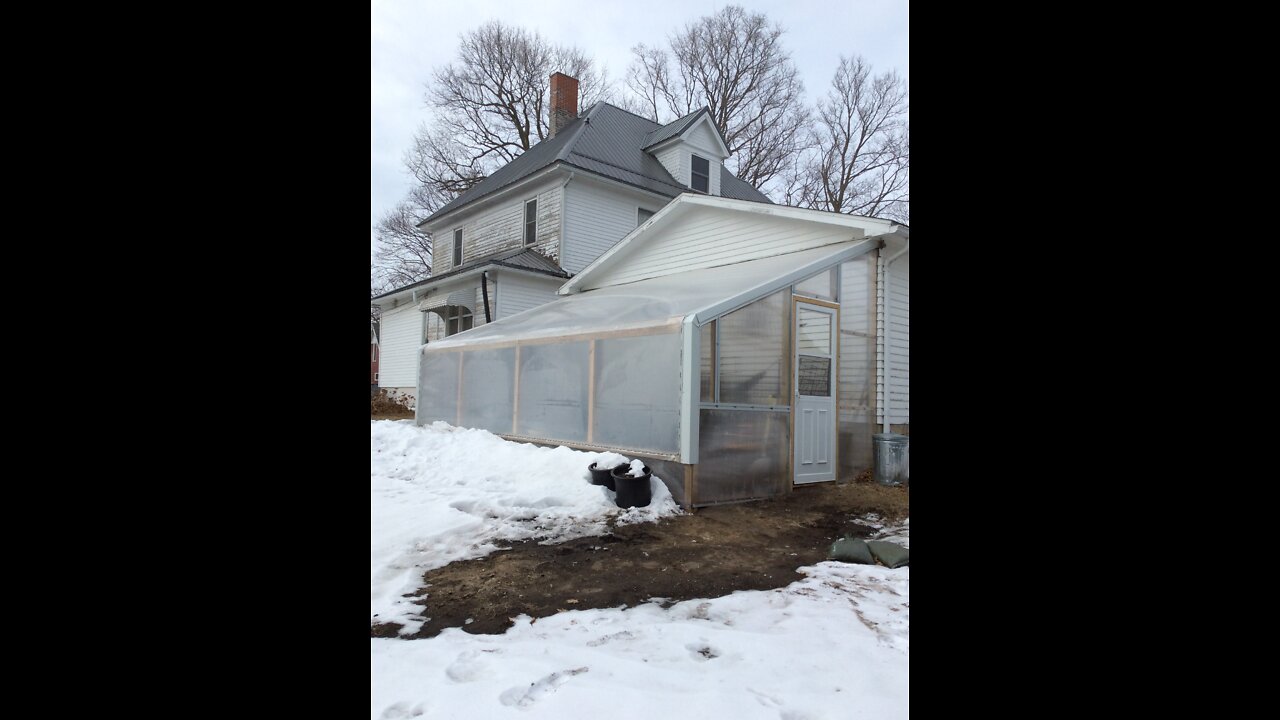
[[[744,218],[753,242],[669,261],[691,224]],[[791,250],[814,228],[835,234]],[[850,479],[879,429],[878,259],[906,245],[883,220],[681,196],[557,300],[425,345],[417,423],[643,457],[685,506]]]

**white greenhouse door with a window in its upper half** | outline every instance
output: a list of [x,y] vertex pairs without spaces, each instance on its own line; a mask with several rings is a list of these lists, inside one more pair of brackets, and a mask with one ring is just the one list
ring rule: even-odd
[[836,310],[796,300],[795,482],[836,479]]

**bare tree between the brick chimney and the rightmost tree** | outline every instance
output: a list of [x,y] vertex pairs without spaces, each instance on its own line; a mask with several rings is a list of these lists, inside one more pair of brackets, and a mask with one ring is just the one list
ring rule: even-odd
[[808,123],[783,32],[762,13],[728,5],[686,24],[669,51],[635,46],[627,87],[655,122],[707,105],[733,154],[730,169],[762,187],[795,155]]

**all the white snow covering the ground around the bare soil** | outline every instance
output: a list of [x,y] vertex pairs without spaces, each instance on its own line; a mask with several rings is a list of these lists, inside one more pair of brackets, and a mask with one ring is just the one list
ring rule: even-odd
[[[598,454],[407,421],[374,421],[371,446],[378,619],[404,614],[398,593],[424,569],[495,539],[603,532],[620,512],[584,479]],[[628,519],[676,511],[655,486],[654,503]],[[910,544],[910,521],[878,534]],[[666,609],[521,616],[502,635],[371,638],[371,717],[908,717],[910,569],[800,573],[786,588]]]

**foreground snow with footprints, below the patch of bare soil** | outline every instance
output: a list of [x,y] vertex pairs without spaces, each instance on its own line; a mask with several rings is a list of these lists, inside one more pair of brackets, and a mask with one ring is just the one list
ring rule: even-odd
[[521,616],[502,635],[370,639],[371,717],[908,717],[910,568],[800,573],[667,609]]

